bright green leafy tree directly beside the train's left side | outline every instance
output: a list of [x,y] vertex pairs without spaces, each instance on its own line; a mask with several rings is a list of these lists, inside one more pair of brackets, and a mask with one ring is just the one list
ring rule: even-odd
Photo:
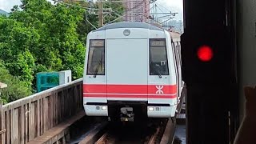
[[53,6],[46,0],[22,0],[20,8],[14,6],[10,18],[38,34],[28,47],[34,56],[34,72],[70,69],[73,78],[81,78],[85,47],[76,30],[84,10],[62,4]]

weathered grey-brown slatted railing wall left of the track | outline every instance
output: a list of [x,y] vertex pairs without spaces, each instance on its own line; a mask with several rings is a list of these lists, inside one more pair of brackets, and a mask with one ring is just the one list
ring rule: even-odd
[[82,110],[82,78],[2,106],[0,143],[25,144]]

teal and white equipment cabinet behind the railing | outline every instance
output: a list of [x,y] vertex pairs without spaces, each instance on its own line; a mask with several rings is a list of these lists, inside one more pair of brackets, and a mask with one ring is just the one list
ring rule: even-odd
[[37,74],[37,92],[71,82],[71,70],[41,72]]

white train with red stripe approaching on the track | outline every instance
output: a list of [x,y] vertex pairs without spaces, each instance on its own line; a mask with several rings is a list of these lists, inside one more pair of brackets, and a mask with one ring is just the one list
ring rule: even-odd
[[117,22],[87,35],[83,105],[88,116],[174,117],[183,82],[179,34]]

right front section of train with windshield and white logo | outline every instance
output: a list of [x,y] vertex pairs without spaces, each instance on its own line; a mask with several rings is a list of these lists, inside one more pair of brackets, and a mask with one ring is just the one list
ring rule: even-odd
[[166,98],[170,92],[166,39],[150,39],[149,51],[148,102],[158,103],[156,98]]

